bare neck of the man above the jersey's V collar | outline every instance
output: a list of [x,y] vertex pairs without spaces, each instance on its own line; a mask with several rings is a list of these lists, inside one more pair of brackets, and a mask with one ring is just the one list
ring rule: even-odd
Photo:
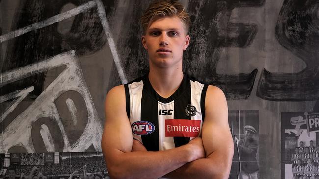
[[182,69],[150,68],[148,78],[153,89],[164,98],[171,96],[181,85],[183,80]]

